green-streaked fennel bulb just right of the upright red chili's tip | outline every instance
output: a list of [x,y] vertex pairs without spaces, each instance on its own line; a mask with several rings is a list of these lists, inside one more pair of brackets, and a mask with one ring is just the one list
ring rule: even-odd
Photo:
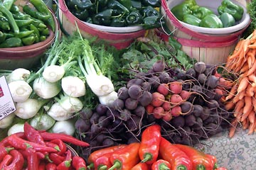
[[55,120],[50,117],[50,115],[43,113],[41,115],[34,116],[31,121],[30,125],[33,126],[36,130],[49,130],[53,127]]

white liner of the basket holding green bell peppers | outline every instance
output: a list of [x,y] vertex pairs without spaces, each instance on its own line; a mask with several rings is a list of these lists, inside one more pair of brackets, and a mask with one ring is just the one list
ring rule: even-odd
[[[167,4],[169,6],[169,9],[173,8],[177,4],[180,4],[183,0],[175,0],[175,1],[167,1]],[[206,1],[206,0],[196,0],[196,3],[199,6],[205,6],[207,8],[210,8],[215,14],[218,15],[217,8],[220,6],[222,0],[215,0],[215,1]],[[203,28],[199,26],[193,26],[188,23],[183,23],[182,21],[179,21],[183,26],[190,28],[193,31],[199,32],[199,33],[207,33],[207,34],[214,34],[214,35],[223,35],[228,33],[235,33],[238,30],[241,30],[242,28],[245,28],[245,26],[250,23],[250,15],[247,13],[247,10],[244,5],[240,4],[238,1],[233,1],[235,4],[238,4],[244,8],[244,13],[242,15],[242,19],[239,22],[236,22],[235,26],[228,27],[228,28]]]

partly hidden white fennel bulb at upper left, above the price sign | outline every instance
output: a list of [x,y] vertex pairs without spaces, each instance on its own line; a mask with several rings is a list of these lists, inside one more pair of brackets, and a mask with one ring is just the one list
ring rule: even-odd
[[28,69],[18,68],[14,69],[8,76],[6,76],[6,81],[11,83],[11,81],[24,80],[28,79],[31,72]]

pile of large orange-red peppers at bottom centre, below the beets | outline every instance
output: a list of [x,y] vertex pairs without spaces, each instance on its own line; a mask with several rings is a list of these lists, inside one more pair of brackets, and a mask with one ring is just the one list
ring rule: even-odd
[[87,159],[88,169],[225,169],[215,156],[186,145],[173,145],[161,136],[158,124],[142,132],[141,142],[98,149]]

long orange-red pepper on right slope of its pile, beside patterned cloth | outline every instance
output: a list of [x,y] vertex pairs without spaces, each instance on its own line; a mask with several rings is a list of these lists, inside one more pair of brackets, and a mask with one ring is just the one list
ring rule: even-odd
[[199,151],[194,147],[190,147],[187,145],[175,144],[178,149],[181,149],[185,152],[188,157],[191,159],[193,164],[193,169],[201,170],[201,169],[213,169],[213,162],[206,156],[205,153]]

